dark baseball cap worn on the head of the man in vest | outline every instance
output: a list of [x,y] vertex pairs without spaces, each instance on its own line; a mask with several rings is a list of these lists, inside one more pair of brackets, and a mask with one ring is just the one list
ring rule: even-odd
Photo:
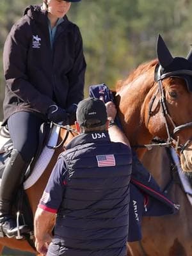
[[77,122],[86,128],[99,127],[108,120],[106,106],[102,100],[87,98],[77,105]]

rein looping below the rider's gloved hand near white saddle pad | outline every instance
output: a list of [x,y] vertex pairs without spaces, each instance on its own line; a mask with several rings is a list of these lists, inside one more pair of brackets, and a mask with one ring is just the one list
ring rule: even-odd
[[73,136],[73,132],[75,132],[76,134],[79,134],[76,129],[73,129],[72,127],[70,127],[70,125],[62,125],[62,124],[56,124],[54,122],[51,122],[50,124],[50,131],[49,131],[49,136],[47,138],[47,141],[49,142],[49,139],[51,138],[51,128],[52,128],[52,125],[55,125],[56,127],[60,127],[61,129],[65,129],[67,130],[66,134],[65,134],[65,137],[63,138],[63,140],[61,140],[61,142],[58,144],[58,145],[55,145],[55,146],[50,146],[48,144],[46,144],[46,147],[47,148],[51,148],[51,149],[56,149],[56,148],[59,148],[61,147],[63,144],[65,144],[65,141],[67,141],[67,138],[68,138],[68,135],[71,133]]

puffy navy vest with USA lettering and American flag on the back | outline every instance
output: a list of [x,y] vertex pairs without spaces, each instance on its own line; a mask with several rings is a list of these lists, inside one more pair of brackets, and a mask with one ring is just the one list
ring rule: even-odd
[[[67,161],[67,188],[55,239],[76,255],[126,255],[132,154],[108,132],[76,136],[60,157]],[[66,254],[74,255],[74,254]]]

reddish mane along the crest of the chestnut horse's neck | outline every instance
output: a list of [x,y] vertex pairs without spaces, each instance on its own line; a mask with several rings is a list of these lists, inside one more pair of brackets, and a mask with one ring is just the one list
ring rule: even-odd
[[140,66],[138,66],[135,70],[133,70],[125,80],[117,81],[115,86],[116,92],[120,90],[122,86],[125,86],[128,83],[131,83],[136,77],[141,76],[143,73],[150,70],[150,68],[154,67],[157,64],[157,62],[158,62],[157,60],[152,60],[152,61],[143,63]]

